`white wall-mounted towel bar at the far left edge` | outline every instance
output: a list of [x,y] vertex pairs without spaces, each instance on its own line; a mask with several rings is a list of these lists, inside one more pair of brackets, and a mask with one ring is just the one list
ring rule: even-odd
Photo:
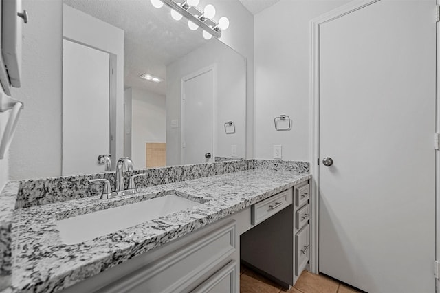
[[0,160],[5,157],[5,153],[12,142],[21,109],[24,109],[23,102],[10,98],[5,94],[0,94],[0,113],[11,110],[3,135],[0,132]]

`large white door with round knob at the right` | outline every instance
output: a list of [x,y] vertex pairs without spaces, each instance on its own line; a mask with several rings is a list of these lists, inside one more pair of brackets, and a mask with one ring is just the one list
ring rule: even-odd
[[382,0],[320,25],[319,270],[367,292],[435,292],[434,10]]

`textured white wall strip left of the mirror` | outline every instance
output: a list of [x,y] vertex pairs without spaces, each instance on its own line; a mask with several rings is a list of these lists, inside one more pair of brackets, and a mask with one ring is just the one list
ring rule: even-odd
[[63,2],[23,0],[23,9],[32,17],[23,25],[22,86],[12,89],[25,103],[10,146],[12,180],[61,175]]

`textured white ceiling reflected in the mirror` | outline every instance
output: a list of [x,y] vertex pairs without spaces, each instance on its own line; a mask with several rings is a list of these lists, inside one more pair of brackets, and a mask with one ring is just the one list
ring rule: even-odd
[[[175,21],[166,6],[148,0],[64,0],[69,6],[124,30],[124,87],[166,93],[166,65],[205,44],[201,30]],[[152,83],[139,78],[148,73],[164,78]]]

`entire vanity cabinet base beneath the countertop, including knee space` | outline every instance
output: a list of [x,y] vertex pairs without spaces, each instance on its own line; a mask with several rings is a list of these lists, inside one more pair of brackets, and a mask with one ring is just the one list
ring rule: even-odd
[[241,260],[289,287],[309,262],[309,197],[303,182],[63,292],[239,293]]

